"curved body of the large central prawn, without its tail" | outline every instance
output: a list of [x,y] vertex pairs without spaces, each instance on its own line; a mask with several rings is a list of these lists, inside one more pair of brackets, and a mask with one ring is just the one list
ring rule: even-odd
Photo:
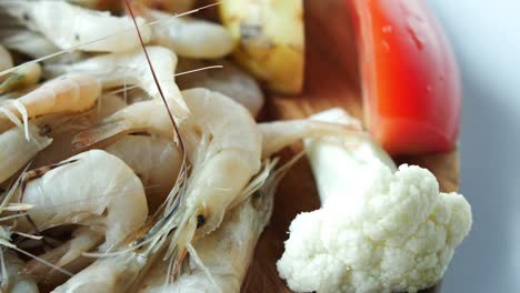
[[260,170],[262,140],[249,111],[230,98],[206,89],[182,95],[192,114],[181,124],[181,135],[188,150],[197,150],[186,216],[206,219],[198,229],[203,235],[220,225],[229,204]]

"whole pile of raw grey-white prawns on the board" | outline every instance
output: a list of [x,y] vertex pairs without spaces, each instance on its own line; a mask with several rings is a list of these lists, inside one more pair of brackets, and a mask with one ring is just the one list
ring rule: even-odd
[[186,2],[0,2],[0,292],[239,292],[276,153],[356,131],[257,123],[234,41]]

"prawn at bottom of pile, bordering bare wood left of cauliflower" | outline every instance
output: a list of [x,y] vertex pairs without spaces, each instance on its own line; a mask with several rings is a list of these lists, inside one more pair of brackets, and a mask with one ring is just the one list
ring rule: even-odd
[[283,172],[269,172],[263,185],[226,213],[222,224],[198,240],[191,270],[169,283],[169,263],[157,260],[139,286],[152,292],[240,292],[258,239],[271,218],[273,195]]

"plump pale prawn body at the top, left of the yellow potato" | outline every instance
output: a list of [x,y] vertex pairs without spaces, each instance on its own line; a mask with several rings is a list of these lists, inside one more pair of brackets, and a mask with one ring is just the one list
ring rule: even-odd
[[170,48],[179,55],[216,59],[233,51],[233,39],[220,24],[190,17],[171,18],[158,10],[146,10],[146,13],[150,20],[168,19],[153,26],[152,42]]

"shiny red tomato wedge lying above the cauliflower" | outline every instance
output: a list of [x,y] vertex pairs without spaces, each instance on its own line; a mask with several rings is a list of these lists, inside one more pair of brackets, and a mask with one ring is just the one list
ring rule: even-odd
[[366,124],[391,154],[449,151],[461,84],[426,0],[347,0],[354,19]]

